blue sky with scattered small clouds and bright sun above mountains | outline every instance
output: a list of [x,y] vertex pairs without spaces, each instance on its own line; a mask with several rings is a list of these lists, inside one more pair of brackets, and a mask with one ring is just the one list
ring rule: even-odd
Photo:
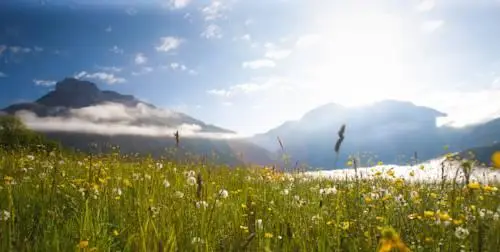
[[65,77],[243,135],[325,103],[500,116],[497,0],[3,0],[0,107]]

